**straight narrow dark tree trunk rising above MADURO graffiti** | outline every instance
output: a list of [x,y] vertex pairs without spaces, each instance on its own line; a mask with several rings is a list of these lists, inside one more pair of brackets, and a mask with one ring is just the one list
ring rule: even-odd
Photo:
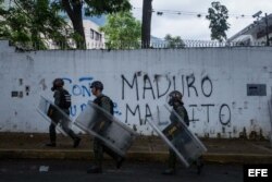
[[143,0],[141,48],[150,47],[152,0]]

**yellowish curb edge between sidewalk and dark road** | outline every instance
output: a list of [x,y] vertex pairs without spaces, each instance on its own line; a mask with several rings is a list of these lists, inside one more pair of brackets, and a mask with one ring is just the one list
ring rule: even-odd
[[[0,159],[71,159],[91,160],[91,150],[60,150],[60,149],[1,149]],[[149,151],[128,151],[127,161],[165,162],[169,154]],[[106,160],[112,160],[104,155]],[[272,163],[272,155],[259,154],[205,154],[203,161],[208,163]]]

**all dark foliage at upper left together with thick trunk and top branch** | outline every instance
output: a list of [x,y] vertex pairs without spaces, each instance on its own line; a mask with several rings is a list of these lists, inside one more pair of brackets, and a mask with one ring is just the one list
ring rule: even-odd
[[[49,40],[63,48],[69,48],[71,41],[75,41],[77,48],[86,48],[83,7],[88,15],[132,8],[128,0],[13,0],[9,9],[3,8],[3,2],[0,0],[0,38],[10,39],[16,45],[39,45],[39,49],[48,48]],[[73,29],[60,16],[60,11],[67,13]]]

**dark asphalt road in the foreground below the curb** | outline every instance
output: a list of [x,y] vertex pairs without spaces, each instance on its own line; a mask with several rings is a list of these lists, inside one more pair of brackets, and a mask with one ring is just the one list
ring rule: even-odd
[[91,161],[83,160],[1,160],[1,182],[242,182],[243,166],[206,165],[200,175],[196,168],[178,166],[177,174],[163,175],[163,163],[125,162],[115,169],[112,161],[106,161],[103,173],[88,174]]

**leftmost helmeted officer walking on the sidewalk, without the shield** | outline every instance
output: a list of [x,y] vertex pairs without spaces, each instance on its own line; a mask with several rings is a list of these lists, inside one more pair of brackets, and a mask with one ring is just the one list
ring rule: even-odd
[[[65,112],[67,116],[70,114],[70,106],[71,106],[71,95],[66,89],[63,88],[64,82],[62,78],[55,78],[53,81],[53,86],[51,88],[52,92],[54,92],[54,105],[58,106],[60,109],[62,109],[63,112]],[[66,104],[70,105],[66,105]],[[55,124],[58,124],[58,120],[61,116],[55,112],[55,110],[52,111],[53,118],[57,118],[57,120],[52,121],[49,126],[49,133],[50,133],[50,143],[46,144],[50,147],[55,147]],[[81,138],[66,125],[65,122],[62,123],[62,129],[69,134],[69,136],[74,141],[73,147],[76,148],[79,143]]]

